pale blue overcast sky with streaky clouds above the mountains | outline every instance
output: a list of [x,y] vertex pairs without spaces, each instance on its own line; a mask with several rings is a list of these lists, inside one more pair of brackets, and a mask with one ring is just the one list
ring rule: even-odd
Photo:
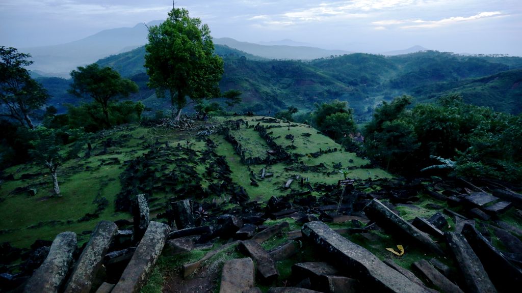
[[[283,39],[347,51],[421,45],[522,56],[522,0],[179,0],[216,38]],[[167,18],[170,0],[2,0],[0,45],[67,43]]]

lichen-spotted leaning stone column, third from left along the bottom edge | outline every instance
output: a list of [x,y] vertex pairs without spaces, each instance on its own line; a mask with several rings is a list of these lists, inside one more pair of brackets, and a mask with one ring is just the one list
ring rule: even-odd
[[120,280],[112,289],[112,293],[139,292],[141,287],[147,283],[148,275],[152,272],[154,264],[158,260],[170,227],[150,222],[145,235],[139,242],[134,255],[125,268]]

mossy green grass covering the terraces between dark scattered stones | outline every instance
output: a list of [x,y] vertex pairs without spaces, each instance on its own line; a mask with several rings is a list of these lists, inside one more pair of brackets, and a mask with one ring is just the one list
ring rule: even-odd
[[[236,117],[243,118],[250,125],[255,125],[260,117]],[[216,124],[222,123],[224,118],[213,118]],[[269,125],[269,124],[265,124]],[[283,125],[272,124],[272,125]],[[361,166],[368,162],[356,157],[352,153],[333,152],[324,154],[317,158],[309,158],[306,154],[317,152],[319,148],[327,150],[328,148],[340,149],[340,146],[331,139],[317,133],[313,128],[305,125],[293,124],[291,130],[288,127],[272,128],[274,131],[272,136],[281,138],[275,141],[283,146],[290,145],[290,141],[285,139],[288,133],[292,133],[295,137],[294,145],[298,147],[291,152],[302,155],[302,163],[305,165],[317,165],[324,163],[326,169],[321,173],[312,172],[295,172],[287,171],[286,165],[279,163],[267,166],[268,172],[274,173],[274,177],[265,180],[258,180],[259,187],[250,185],[250,171],[248,167],[240,162],[240,157],[234,153],[231,144],[224,140],[222,135],[212,135],[210,138],[218,145],[216,152],[226,157],[231,170],[233,182],[243,186],[250,195],[251,200],[265,201],[271,196],[282,196],[288,194],[290,190],[283,189],[284,183],[294,175],[308,177],[311,184],[315,182],[323,182],[326,184],[334,184],[341,179],[341,174],[337,173],[334,168],[335,163],[341,163],[342,167]],[[233,135],[244,145],[244,150],[248,156],[264,156],[269,150],[266,142],[262,140],[257,131],[253,128],[246,129],[244,125],[240,130],[231,131]],[[302,133],[311,133],[311,137],[304,137]],[[9,241],[11,245],[16,247],[29,247],[36,239],[51,240],[54,236],[65,230],[75,231],[81,234],[82,231],[92,230],[96,223],[101,219],[116,220],[121,218],[131,218],[131,215],[125,213],[116,213],[114,209],[114,199],[116,194],[121,190],[120,174],[124,170],[124,162],[132,160],[147,152],[149,148],[147,144],[152,144],[158,139],[162,143],[169,142],[171,146],[178,143],[185,146],[187,140],[190,148],[201,154],[206,146],[205,142],[196,140],[194,132],[165,130],[162,128],[144,128],[138,126],[123,126],[110,131],[98,133],[97,139],[92,141],[93,154],[100,153],[103,149],[102,141],[112,138],[116,142],[116,146],[109,148],[108,154],[91,156],[90,158],[77,158],[65,162],[58,169],[58,179],[62,190],[62,197],[51,197],[52,186],[51,179],[45,175],[46,170],[42,166],[32,164],[14,166],[6,170],[7,174],[15,176],[14,181],[3,182],[0,192],[3,199],[0,202],[0,210],[2,217],[0,218],[0,242]],[[111,160],[117,160],[118,163],[110,164]],[[352,160],[350,162],[350,160]],[[206,165],[195,165],[196,170],[203,181],[203,187],[208,186],[205,180],[204,172]],[[175,167],[175,166],[174,166]],[[250,169],[254,173],[264,165],[252,165]],[[33,174],[42,172],[44,175],[35,176],[33,179],[20,180],[23,174]],[[332,173],[335,175],[329,175]],[[353,178],[365,179],[368,177],[389,177],[389,175],[380,169],[356,169],[350,175]],[[30,197],[27,192],[18,194],[13,190],[20,187],[37,188],[38,192],[35,196]],[[292,188],[299,189],[296,184]],[[172,194],[157,192],[153,194],[154,198],[159,200],[151,204],[151,208],[157,207],[161,209],[164,202]],[[97,197],[104,197],[109,201],[109,206],[103,210],[99,218],[91,219],[87,222],[78,222],[78,219],[87,213],[93,213],[96,210],[96,204],[93,201]],[[211,200],[211,199],[206,199]],[[224,201],[226,198],[218,199]],[[32,227],[32,228],[29,228]],[[80,243],[86,241],[87,236],[80,238]]]

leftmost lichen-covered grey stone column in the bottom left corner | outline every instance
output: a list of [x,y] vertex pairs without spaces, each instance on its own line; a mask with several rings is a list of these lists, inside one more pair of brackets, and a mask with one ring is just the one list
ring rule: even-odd
[[23,292],[58,292],[73,263],[75,249],[76,233],[58,234],[54,238],[47,258],[31,276]]

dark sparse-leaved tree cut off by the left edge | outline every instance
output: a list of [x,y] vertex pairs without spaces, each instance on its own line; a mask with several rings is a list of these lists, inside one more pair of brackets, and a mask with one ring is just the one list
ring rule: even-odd
[[33,129],[30,115],[45,104],[49,95],[24,68],[32,64],[29,57],[16,48],[0,47],[0,116]]

